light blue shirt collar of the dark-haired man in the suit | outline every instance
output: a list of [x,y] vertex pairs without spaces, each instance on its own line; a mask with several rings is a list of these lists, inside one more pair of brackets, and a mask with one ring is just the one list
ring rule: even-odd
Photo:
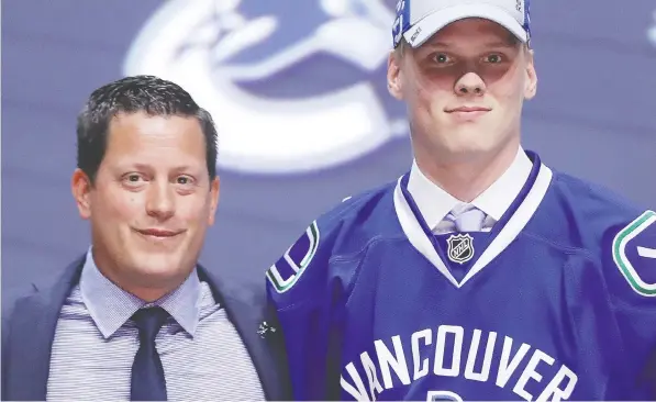
[[193,336],[200,314],[200,280],[194,269],[185,282],[162,299],[147,303],[119,288],[96,266],[91,247],[80,277],[80,293],[91,319],[107,339],[141,308],[159,305]]

